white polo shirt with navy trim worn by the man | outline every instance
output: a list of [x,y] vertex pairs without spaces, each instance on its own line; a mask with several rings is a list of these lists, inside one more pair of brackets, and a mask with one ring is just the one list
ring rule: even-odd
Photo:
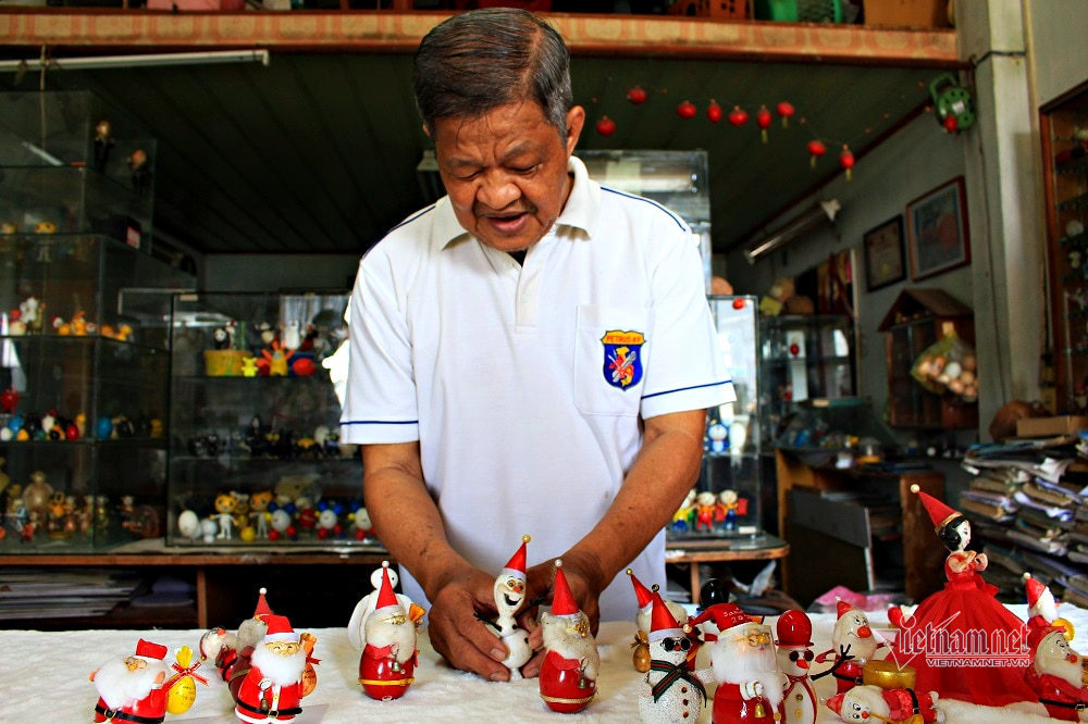
[[[419,440],[450,544],[496,575],[522,534],[532,565],[603,517],[641,419],[734,399],[695,237],[577,158],[569,171],[567,204],[523,265],[443,198],[363,257],[351,296],[341,439]],[[631,567],[664,586],[664,532]],[[602,620],[636,608],[627,576],[601,599]]]

